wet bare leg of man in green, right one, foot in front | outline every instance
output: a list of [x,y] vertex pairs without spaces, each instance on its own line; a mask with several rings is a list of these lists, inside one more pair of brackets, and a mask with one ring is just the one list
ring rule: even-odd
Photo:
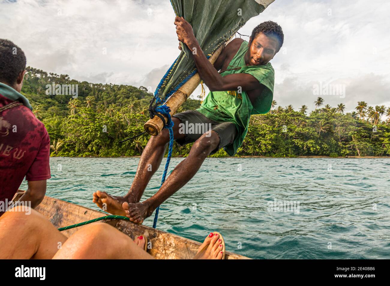
[[142,223],[162,202],[176,193],[198,172],[203,161],[219,144],[218,134],[210,131],[211,136],[206,137],[206,132],[194,142],[188,157],[174,168],[156,194],[142,203],[123,203],[126,216],[131,221]]

